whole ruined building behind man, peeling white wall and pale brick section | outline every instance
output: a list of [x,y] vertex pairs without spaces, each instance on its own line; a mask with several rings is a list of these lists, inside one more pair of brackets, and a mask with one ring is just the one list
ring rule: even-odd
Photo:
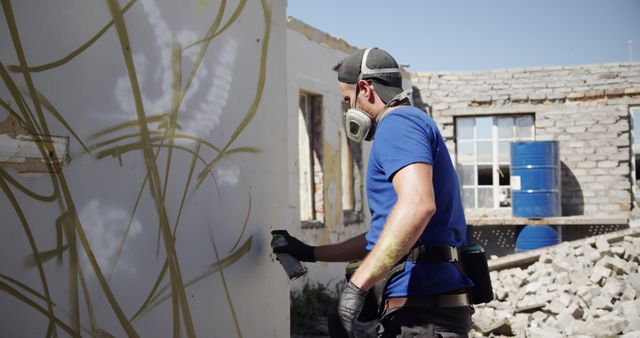
[[[292,231],[311,243],[341,241],[365,231],[369,216],[368,144],[347,141],[330,71],[357,48],[291,17],[287,39],[289,132],[299,137],[289,144],[298,158],[290,174],[301,183],[301,226]],[[529,224],[551,225],[567,241],[627,228],[640,215],[640,63],[408,74],[414,104],[438,124],[455,162],[470,236],[490,254],[513,253]],[[561,215],[512,216],[516,141],[557,141]],[[310,280],[343,275],[341,266],[315,265]]]

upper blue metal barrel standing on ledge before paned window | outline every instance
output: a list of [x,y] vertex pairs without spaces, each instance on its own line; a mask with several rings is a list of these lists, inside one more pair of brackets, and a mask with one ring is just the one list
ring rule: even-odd
[[558,142],[511,143],[511,198],[514,217],[562,215]]

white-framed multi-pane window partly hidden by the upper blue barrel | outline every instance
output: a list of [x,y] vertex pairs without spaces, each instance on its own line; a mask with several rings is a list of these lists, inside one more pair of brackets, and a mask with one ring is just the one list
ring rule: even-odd
[[456,118],[456,170],[465,208],[511,207],[511,142],[533,141],[533,115]]

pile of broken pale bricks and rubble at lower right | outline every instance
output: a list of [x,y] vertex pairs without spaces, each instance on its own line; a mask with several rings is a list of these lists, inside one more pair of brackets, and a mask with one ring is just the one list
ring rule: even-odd
[[495,299],[470,337],[640,338],[640,238],[565,242],[526,268],[491,272]]

